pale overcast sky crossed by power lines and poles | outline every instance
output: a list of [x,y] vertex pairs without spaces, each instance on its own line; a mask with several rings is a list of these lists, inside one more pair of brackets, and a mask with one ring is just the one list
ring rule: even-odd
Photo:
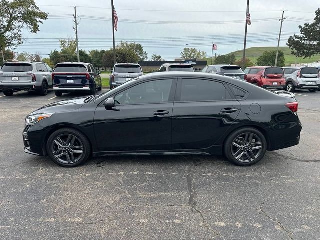
[[[35,0],[49,18],[37,34],[24,31],[25,43],[15,51],[40,52],[47,57],[59,49],[59,38],[75,38],[74,6],[77,6],[79,48],[112,47],[111,0]],[[284,20],[280,46],[299,33],[298,26],[311,23],[318,0],[250,0],[252,24],[248,26],[247,48],[276,46],[282,10]],[[114,0],[119,17],[115,40],[142,44],[148,57],[166,60],[180,56],[184,47],[195,47],[211,56],[243,49],[246,0]]]

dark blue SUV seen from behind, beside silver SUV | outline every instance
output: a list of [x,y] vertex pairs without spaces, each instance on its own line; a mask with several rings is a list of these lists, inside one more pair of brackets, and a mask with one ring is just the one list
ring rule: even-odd
[[53,90],[56,96],[66,92],[96,94],[102,89],[100,72],[90,63],[61,62],[52,73]]

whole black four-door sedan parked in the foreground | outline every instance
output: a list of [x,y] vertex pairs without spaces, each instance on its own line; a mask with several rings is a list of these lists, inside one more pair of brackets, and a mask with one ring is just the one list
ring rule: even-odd
[[224,154],[248,166],[299,143],[298,103],[288,96],[215,74],[151,73],[32,112],[24,151],[65,167],[124,154]]

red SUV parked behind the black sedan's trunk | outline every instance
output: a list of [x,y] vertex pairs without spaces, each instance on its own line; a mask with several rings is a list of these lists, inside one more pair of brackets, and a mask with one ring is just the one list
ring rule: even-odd
[[244,69],[244,80],[263,88],[285,89],[284,71],[281,67],[252,66]]

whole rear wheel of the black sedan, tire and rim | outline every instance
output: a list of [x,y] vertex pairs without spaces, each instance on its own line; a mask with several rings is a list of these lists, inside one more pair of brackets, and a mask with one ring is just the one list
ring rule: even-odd
[[[252,147],[256,149],[252,149]],[[227,137],[224,142],[223,151],[226,158],[233,164],[238,166],[251,166],[263,158],[266,151],[266,139],[264,135],[255,128],[240,128]]]

